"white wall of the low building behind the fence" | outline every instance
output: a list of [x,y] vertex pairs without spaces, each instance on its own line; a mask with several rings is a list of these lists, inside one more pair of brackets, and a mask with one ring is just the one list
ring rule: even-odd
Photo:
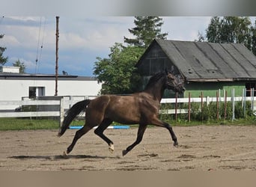
[[[21,100],[29,96],[29,87],[45,88],[45,96],[55,95],[55,80],[0,79],[0,100]],[[101,89],[97,80],[59,80],[58,96],[96,96]]]

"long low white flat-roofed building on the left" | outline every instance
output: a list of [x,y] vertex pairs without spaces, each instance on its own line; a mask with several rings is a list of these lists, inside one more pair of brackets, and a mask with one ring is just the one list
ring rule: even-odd
[[[3,70],[3,68],[1,69]],[[55,95],[55,75],[0,71],[0,100]],[[97,96],[101,84],[94,77],[58,75],[58,96]]]

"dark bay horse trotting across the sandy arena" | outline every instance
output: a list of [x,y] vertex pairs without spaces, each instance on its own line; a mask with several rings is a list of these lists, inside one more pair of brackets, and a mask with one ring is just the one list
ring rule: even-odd
[[106,141],[109,145],[109,151],[113,152],[113,142],[103,134],[104,130],[113,121],[123,124],[139,125],[135,142],[127,147],[126,150],[123,150],[123,156],[141,142],[148,124],[162,126],[168,129],[174,141],[174,146],[177,147],[177,137],[172,127],[158,118],[160,101],[165,89],[171,89],[178,93],[185,91],[183,82],[180,82],[179,78],[165,70],[164,73],[156,73],[156,75],[152,76],[144,91],[128,96],[103,95],[96,99],[85,99],[76,102],[76,104],[67,111],[61,129],[59,129],[58,136],[64,134],[72,120],[82,111],[85,111],[85,125],[76,132],[72,143],[67,147],[67,152],[64,151],[64,155],[67,156],[67,154],[73,150],[76,141],[78,141],[82,135],[85,135],[86,132],[93,129],[94,126],[98,126],[97,129],[94,130],[94,133]]

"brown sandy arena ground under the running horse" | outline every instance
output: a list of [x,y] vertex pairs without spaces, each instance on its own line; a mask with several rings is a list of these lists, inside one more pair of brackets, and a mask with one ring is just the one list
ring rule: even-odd
[[106,129],[108,145],[88,132],[69,156],[62,153],[76,132],[58,130],[0,132],[0,171],[256,171],[256,126],[174,126],[179,147],[167,129],[151,127],[126,156],[137,128]]

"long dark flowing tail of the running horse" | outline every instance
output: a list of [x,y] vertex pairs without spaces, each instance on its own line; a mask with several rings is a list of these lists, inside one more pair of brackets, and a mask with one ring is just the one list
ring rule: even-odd
[[59,129],[58,136],[61,136],[64,134],[68,126],[70,126],[70,123],[73,121],[73,119],[80,114],[82,111],[85,111],[85,108],[87,105],[91,102],[90,99],[85,99],[79,102],[76,102],[75,105],[73,105],[66,113],[66,116],[64,117],[63,123],[61,124],[61,129]]

